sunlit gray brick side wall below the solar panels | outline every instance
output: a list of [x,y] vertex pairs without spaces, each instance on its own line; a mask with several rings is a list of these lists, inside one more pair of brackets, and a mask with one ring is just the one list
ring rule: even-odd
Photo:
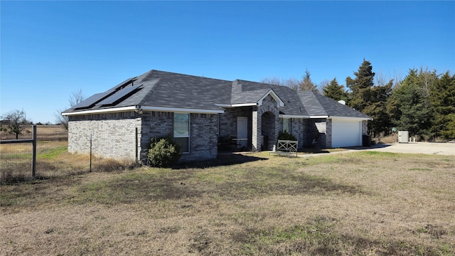
[[68,151],[89,154],[92,134],[92,154],[95,156],[135,160],[136,127],[140,129],[141,119],[135,112],[70,117]]

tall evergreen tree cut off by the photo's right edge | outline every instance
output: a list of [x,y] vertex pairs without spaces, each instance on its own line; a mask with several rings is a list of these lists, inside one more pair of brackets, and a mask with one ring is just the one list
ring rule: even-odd
[[434,110],[431,131],[444,139],[455,139],[455,75],[444,73],[430,87],[430,103]]

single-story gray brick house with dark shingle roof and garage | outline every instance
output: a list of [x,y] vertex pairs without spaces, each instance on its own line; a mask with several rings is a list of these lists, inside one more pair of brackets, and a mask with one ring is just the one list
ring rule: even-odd
[[97,93],[62,113],[68,151],[144,161],[151,138],[171,135],[180,161],[214,159],[226,143],[272,149],[279,132],[299,148],[361,146],[368,115],[323,95],[245,80],[151,70]]

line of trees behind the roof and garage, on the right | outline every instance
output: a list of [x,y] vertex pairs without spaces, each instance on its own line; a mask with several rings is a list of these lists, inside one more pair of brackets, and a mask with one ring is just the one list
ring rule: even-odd
[[262,82],[294,90],[314,90],[333,100],[368,114],[368,132],[374,137],[398,130],[409,131],[425,141],[455,139],[455,75],[449,71],[410,69],[404,79],[376,79],[368,60],[346,78],[346,87],[336,78],[323,82],[321,90],[305,71],[302,80],[266,78]]

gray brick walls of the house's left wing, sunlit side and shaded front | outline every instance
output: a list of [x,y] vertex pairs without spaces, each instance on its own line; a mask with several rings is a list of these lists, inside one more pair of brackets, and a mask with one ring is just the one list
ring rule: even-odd
[[[215,159],[218,154],[218,114],[191,114],[190,153],[181,160]],[[136,154],[136,128],[138,153]],[[146,162],[151,138],[173,135],[172,112],[135,112],[73,116],[68,124],[68,151]]]

